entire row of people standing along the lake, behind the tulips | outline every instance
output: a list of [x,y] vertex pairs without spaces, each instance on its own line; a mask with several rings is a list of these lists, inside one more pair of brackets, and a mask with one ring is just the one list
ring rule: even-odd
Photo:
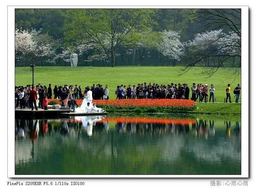
[[[228,84],[226,88],[226,102],[230,98],[230,84]],[[81,86],[65,84],[63,86],[55,85],[52,89],[52,84],[49,84],[49,87],[45,85],[42,86],[41,83],[38,83],[36,87],[32,85],[23,86],[15,86],[15,109],[18,108],[20,103],[20,108],[25,109],[26,107],[31,108],[33,110],[33,104],[35,109],[42,108],[47,110],[47,99],[60,99],[61,106],[64,106],[64,101],[68,97],[68,94],[72,95],[73,99],[84,99],[87,95],[91,94],[93,100],[108,100],[108,85],[103,86],[101,84],[93,84],[91,87],[87,86],[83,90]],[[234,89],[234,94],[236,95],[235,102],[238,103],[239,96],[241,91],[241,85],[238,84]],[[199,103],[205,102],[206,98],[210,96],[209,102],[214,102],[214,85],[208,88],[208,84],[192,84],[192,87],[189,87],[186,83],[178,83],[177,84],[155,84],[149,83],[147,85],[146,82],[138,83],[137,86],[130,84],[117,86],[115,91],[116,99],[187,99],[189,100],[190,93],[192,94],[191,100],[197,102],[199,99]],[[92,104],[92,102],[91,102]]]

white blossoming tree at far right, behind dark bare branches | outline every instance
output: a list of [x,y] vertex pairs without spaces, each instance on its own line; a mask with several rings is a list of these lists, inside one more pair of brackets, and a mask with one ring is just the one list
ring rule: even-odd
[[222,31],[219,29],[198,33],[192,41],[188,41],[191,62],[187,65],[187,70],[197,63],[204,63],[205,67],[210,67],[204,70],[204,75],[211,77],[220,67],[236,66],[234,61],[232,65],[226,65],[229,58],[234,60],[235,57],[241,57],[241,38],[236,32],[226,34]]

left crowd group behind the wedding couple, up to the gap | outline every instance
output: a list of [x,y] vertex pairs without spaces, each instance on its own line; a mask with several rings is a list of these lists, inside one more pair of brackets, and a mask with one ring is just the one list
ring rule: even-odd
[[[38,110],[38,108],[47,110],[47,101],[48,99],[53,98],[60,99],[61,106],[65,106],[64,101],[67,99],[68,94],[70,94],[74,100],[84,99],[88,91],[91,91],[92,99],[94,100],[109,99],[108,85],[103,88],[100,84],[97,84],[96,86],[93,84],[91,88],[87,86],[82,90],[82,87],[78,85],[75,85],[75,87],[72,85],[68,86],[67,84],[64,85],[64,87],[55,85],[52,89],[52,84],[49,84],[49,87],[46,87],[45,85],[42,86],[41,83],[38,83],[35,87],[32,85],[26,85],[25,87],[15,86],[15,109],[17,109],[20,104],[21,109],[31,108],[33,110],[32,104],[34,104],[36,110]],[[72,102],[75,104],[75,101]],[[73,106],[73,104],[68,105]]]

